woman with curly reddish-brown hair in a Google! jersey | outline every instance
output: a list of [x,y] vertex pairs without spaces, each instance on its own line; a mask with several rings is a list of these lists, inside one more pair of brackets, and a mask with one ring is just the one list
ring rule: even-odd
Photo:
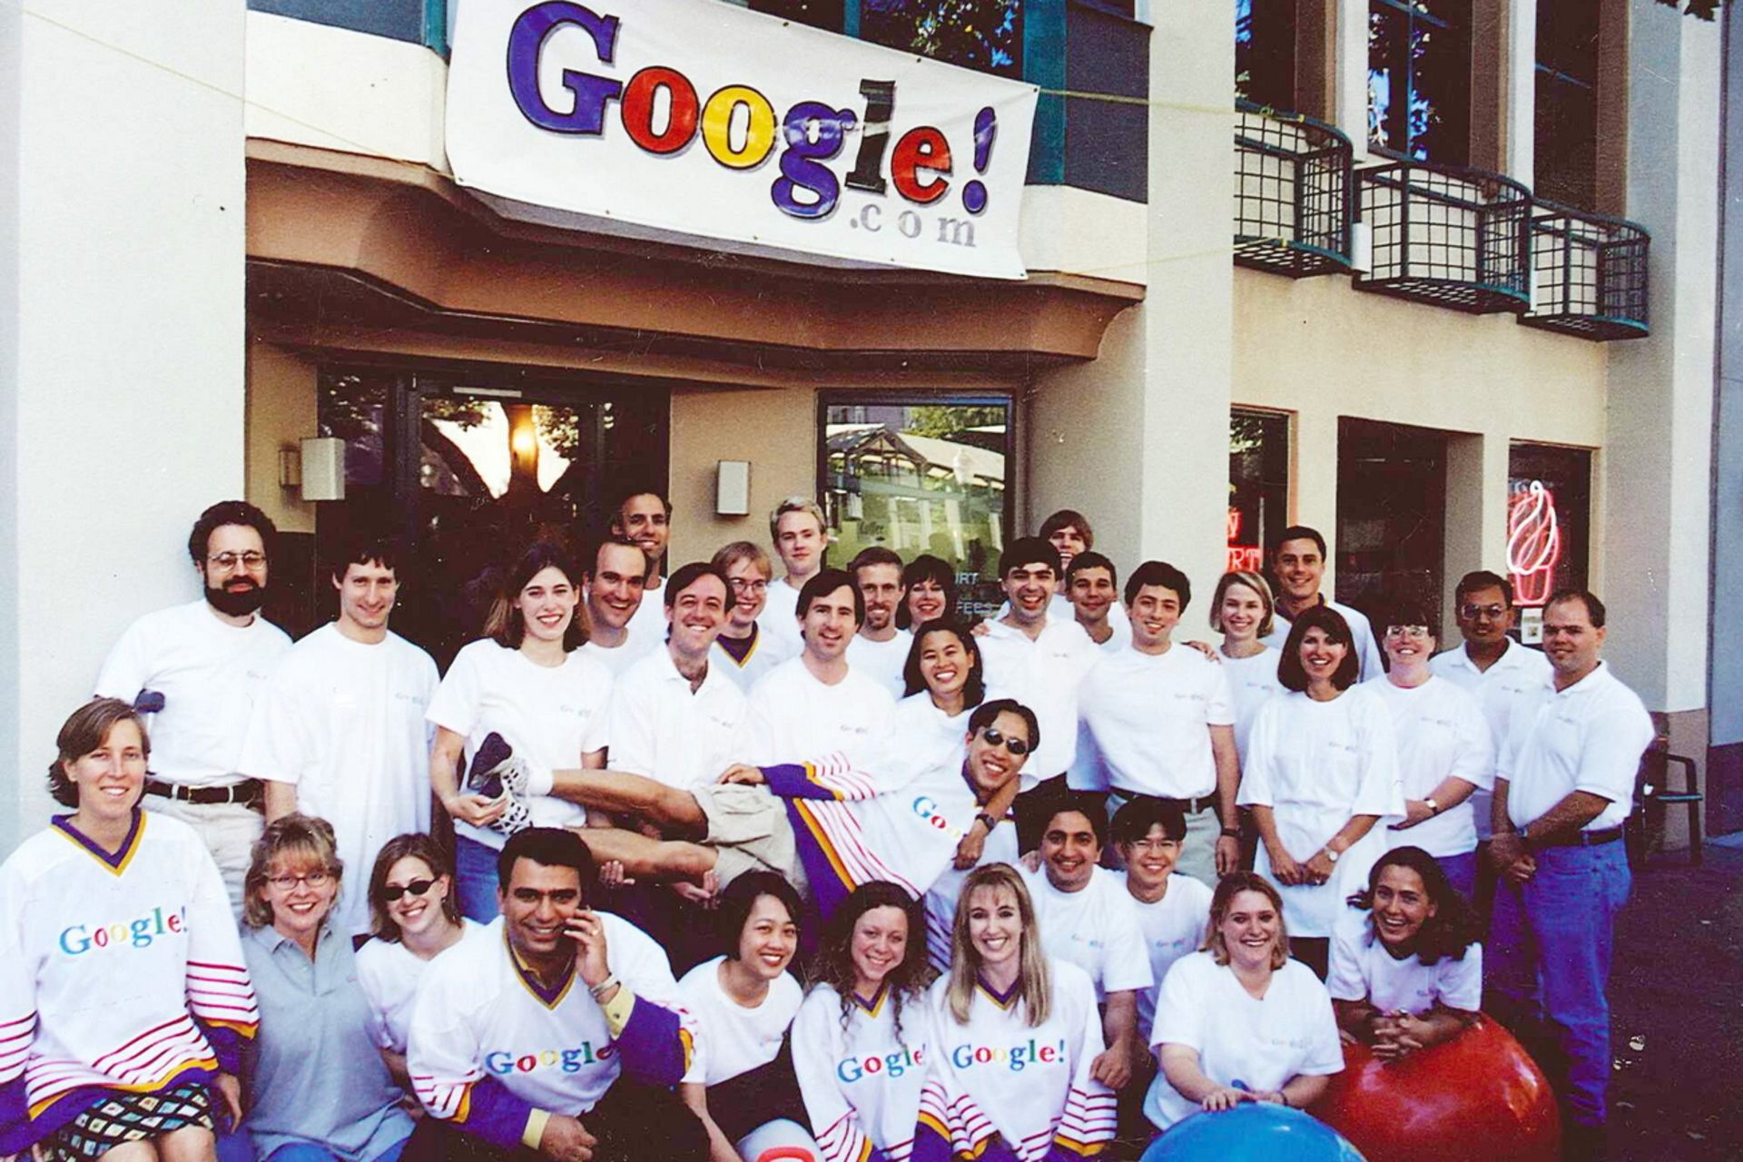
[[793,1068],[824,1162],[905,1159],[926,1085],[920,909],[894,883],[852,890],[830,918],[816,984],[793,1019]]

